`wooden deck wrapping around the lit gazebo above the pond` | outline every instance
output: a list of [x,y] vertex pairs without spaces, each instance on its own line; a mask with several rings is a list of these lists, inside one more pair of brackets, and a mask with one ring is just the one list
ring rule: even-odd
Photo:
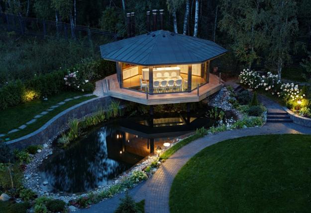
[[107,95],[145,105],[199,102],[219,91],[222,87],[223,84],[219,83],[219,77],[213,74],[209,74],[209,83],[199,87],[199,95],[197,89],[192,92],[147,95],[144,92],[120,88],[116,74],[103,80],[103,91]]

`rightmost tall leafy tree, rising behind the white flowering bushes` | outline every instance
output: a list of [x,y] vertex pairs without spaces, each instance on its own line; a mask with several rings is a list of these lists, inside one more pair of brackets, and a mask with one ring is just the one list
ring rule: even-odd
[[271,0],[268,12],[269,60],[277,66],[278,78],[281,79],[282,68],[291,62],[290,52],[297,45],[297,5],[292,0]]

